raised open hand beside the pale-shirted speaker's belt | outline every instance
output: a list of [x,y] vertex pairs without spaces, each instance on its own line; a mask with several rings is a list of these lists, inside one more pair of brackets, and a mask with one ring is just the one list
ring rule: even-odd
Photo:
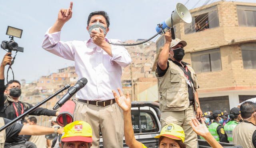
[[131,109],[131,100],[130,100],[129,93],[127,92],[126,97],[124,97],[124,94],[122,93],[122,91],[119,88],[117,90],[119,92],[120,97],[117,95],[117,93],[114,90],[112,90],[116,103],[118,104],[119,107],[121,107],[121,109],[124,112],[129,111]]

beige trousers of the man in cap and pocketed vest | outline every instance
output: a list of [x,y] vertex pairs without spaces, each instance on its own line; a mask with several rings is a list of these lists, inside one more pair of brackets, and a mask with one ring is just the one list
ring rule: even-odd
[[195,117],[193,105],[184,111],[161,112],[161,126],[163,128],[170,123],[181,126],[185,132],[184,144],[186,144],[187,148],[197,148],[197,134],[192,130],[189,124],[189,121]]

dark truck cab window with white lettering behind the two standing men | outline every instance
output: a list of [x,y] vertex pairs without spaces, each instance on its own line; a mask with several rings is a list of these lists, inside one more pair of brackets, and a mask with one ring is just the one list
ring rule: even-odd
[[132,111],[132,127],[134,133],[140,133],[140,128],[142,133],[158,132],[159,130],[154,113],[150,110]]

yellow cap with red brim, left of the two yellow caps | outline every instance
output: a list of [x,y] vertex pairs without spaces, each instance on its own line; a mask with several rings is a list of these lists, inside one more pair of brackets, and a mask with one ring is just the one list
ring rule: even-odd
[[74,121],[64,127],[61,141],[92,142],[92,127],[84,121]]

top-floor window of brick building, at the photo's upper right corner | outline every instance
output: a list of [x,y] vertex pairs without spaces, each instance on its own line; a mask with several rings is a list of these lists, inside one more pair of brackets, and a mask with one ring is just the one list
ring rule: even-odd
[[239,26],[256,27],[256,6],[237,5]]

